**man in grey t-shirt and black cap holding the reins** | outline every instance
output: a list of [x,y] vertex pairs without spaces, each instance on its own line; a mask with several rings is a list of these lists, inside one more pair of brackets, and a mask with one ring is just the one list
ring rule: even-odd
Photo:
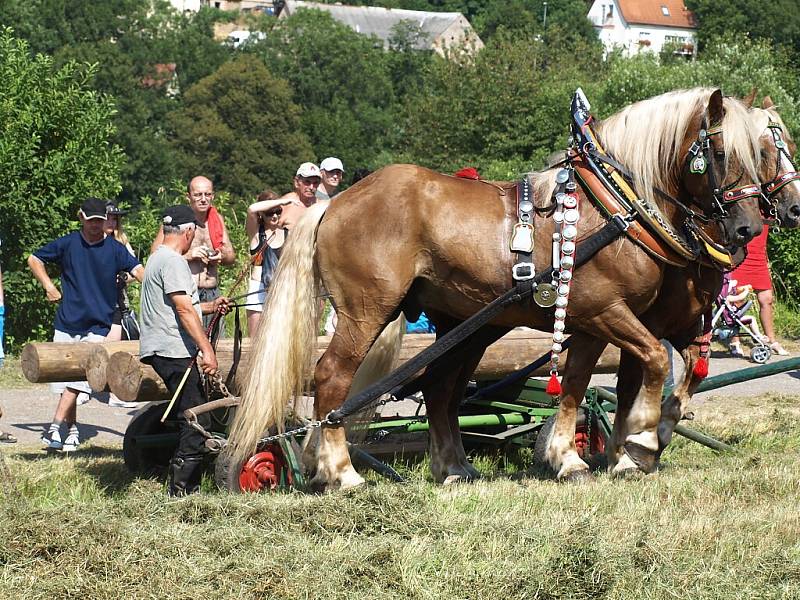
[[[226,312],[229,301],[220,297],[200,302],[197,282],[184,258],[197,227],[192,209],[184,205],[168,208],[161,225],[163,239],[147,261],[142,283],[140,356],[164,380],[171,395],[188,370],[177,402],[180,436],[170,461],[168,488],[170,496],[183,496],[199,489],[205,454],[205,439],[183,418],[183,412],[205,402],[198,366],[207,375],[217,372],[214,348],[200,319],[203,314]],[[205,428],[210,425],[207,413],[198,421]]]

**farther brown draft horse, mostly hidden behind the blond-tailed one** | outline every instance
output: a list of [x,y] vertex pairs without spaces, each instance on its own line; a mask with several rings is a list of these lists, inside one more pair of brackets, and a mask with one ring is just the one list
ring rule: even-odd
[[[746,98],[745,103],[752,103],[754,96],[755,93]],[[798,227],[800,182],[793,177],[796,176],[796,169],[792,161],[796,146],[769,97],[764,99],[762,108],[752,109],[751,118],[763,132],[759,138],[761,161],[758,175],[767,201],[765,211],[773,213],[781,227]],[[783,142],[783,148],[780,142]],[[701,332],[700,319],[711,307],[721,285],[722,272],[713,267],[701,264],[691,269],[667,267],[658,298],[640,317],[654,336],[667,339],[681,353],[686,365],[682,381],[662,403],[658,427],[659,455],[672,439],[675,426],[686,414],[686,407],[702,381],[694,373],[694,366],[700,357],[700,347],[694,341]],[[632,356],[623,352],[617,381],[618,421],[624,422],[640,385],[641,370],[638,364]],[[610,460],[619,455],[622,442],[622,430],[615,427],[611,443],[607,446]]]

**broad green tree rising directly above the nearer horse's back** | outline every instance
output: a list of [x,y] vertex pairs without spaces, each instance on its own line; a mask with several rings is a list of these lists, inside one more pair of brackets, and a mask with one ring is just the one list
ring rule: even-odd
[[566,143],[575,87],[592,79],[574,58],[580,54],[504,33],[474,58],[436,60],[406,104],[402,148],[443,171],[474,164],[487,177],[506,178],[540,167]]

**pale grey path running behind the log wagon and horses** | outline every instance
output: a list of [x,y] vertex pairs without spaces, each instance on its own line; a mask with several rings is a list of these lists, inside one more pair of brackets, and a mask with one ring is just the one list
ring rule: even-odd
[[[778,360],[773,358],[770,362]],[[736,369],[754,366],[742,359],[718,358],[711,361],[711,375],[727,373]],[[680,377],[680,369],[676,368]],[[592,385],[614,386],[613,375],[598,375],[592,378]],[[702,410],[704,401],[710,397],[753,397],[775,393],[796,395],[800,398],[800,371],[790,371],[763,379],[729,386],[725,389],[698,394],[694,399],[696,409]],[[799,400],[800,401],[800,400]],[[38,445],[41,432],[50,423],[55,410],[56,397],[46,385],[33,389],[6,389],[0,391],[0,405],[4,415],[0,430],[12,433],[19,439],[18,445]],[[145,405],[143,405],[145,406]],[[410,414],[416,404],[389,404],[384,407],[386,414],[398,412]],[[131,418],[141,409],[111,408],[107,404],[91,400],[78,407],[78,420],[84,440],[100,444],[122,444],[122,436]],[[697,412],[697,410],[695,411]]]

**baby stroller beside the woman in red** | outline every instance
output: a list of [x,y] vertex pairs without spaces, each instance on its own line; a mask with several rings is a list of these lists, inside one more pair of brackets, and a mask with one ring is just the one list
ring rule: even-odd
[[[750,358],[753,362],[763,365],[772,356],[772,350],[765,343],[763,336],[753,331],[753,327],[751,327],[751,323],[754,323],[753,317],[747,314],[753,305],[753,300],[748,290],[739,291],[737,283],[735,279],[730,279],[728,275],[725,276],[722,290],[715,302],[714,317],[711,320],[712,335],[723,343],[730,343],[731,338],[741,335],[742,332],[746,333],[753,342]],[[745,298],[744,304],[739,306],[737,302]]]

